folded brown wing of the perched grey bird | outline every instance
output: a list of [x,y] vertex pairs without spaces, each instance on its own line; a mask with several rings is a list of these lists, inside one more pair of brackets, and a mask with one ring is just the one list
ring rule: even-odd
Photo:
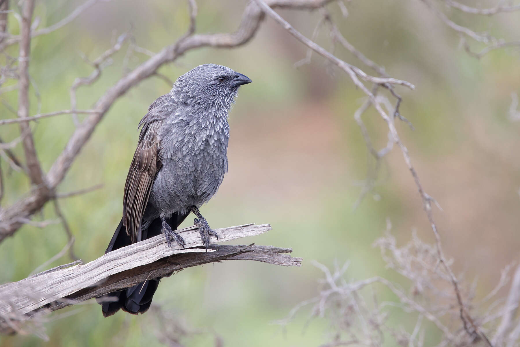
[[145,213],[155,175],[162,165],[159,159],[158,126],[159,122],[143,126],[134,159],[126,176],[123,225],[132,243],[141,240],[142,215]]

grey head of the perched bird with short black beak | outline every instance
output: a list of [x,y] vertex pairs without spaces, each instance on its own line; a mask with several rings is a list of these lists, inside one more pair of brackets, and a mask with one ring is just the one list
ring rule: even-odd
[[173,84],[173,98],[182,103],[218,105],[229,109],[238,88],[251,80],[222,65],[204,64],[186,72]]

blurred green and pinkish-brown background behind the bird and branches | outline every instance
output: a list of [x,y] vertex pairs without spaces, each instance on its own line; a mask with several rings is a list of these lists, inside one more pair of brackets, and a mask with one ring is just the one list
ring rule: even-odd
[[[45,27],[80,3],[39,2],[35,16]],[[197,4],[198,32],[229,32],[238,27],[246,2],[198,0]],[[339,7],[330,7],[347,40],[391,76],[417,86],[415,91],[398,88],[404,98],[401,114],[415,127],[412,131],[398,123],[398,130],[425,190],[443,208],[434,213],[445,252],[454,258],[454,271],[478,278],[477,294],[488,292],[498,281],[500,269],[520,260],[520,122],[508,119],[511,93],[520,92],[519,50],[500,49],[480,60],[473,58],[459,47],[458,35],[422,2],[353,1],[347,8],[349,16],[342,18]],[[320,18],[318,12],[279,13],[308,37]],[[520,32],[515,14],[470,20],[465,24],[505,37]],[[36,38],[30,72],[41,94],[41,112],[70,107],[70,85],[76,77],[92,72],[82,54],[95,59],[130,28],[137,45],[158,52],[182,35],[188,24],[183,1],[113,0],[93,6],[62,30]],[[328,48],[327,29],[316,40]],[[215,331],[226,346],[318,346],[326,341],[330,322],[315,319],[306,325],[308,311],[297,314],[285,327],[272,323],[316,294],[322,273],[312,260],[326,266],[350,261],[347,278],[382,275],[399,281],[372,247],[383,234],[387,217],[398,242],[409,240],[414,230],[433,241],[420,196],[397,148],[384,160],[374,192],[354,209],[370,162],[353,119],[363,94],[344,73],[330,69],[319,57],[294,68],[305,54],[302,44],[267,19],[245,46],[194,50],[160,70],[175,80],[211,62],[253,80],[240,88],[230,115],[229,173],[201,211],[213,228],[269,223],[271,232],[239,243],[292,247],[293,255],[304,259],[298,268],[228,261],[189,268],[162,280],[154,302],[193,330]],[[335,54],[370,72],[341,47]],[[122,49],[98,82],[79,89],[78,108],[92,106],[125,73],[124,65],[134,68],[146,58],[138,53],[125,58]],[[121,219],[137,124],[151,102],[170,89],[165,81],[150,78],[116,101],[60,186],[60,191],[67,192],[103,184],[102,189],[61,202],[76,239],[74,251],[84,262],[103,254]],[[2,98],[16,105],[16,93]],[[31,102],[31,114],[35,114],[36,99]],[[2,119],[14,117],[6,108],[0,114]],[[363,119],[374,145],[383,147],[387,128],[379,115],[369,110]],[[35,126],[36,148],[45,171],[73,128],[69,115],[41,120]],[[12,140],[19,135],[18,127],[4,125],[0,135]],[[21,154],[21,146],[16,151]],[[7,175],[5,181],[4,206],[30,188],[17,173]],[[54,218],[48,205],[35,220]],[[189,217],[183,226],[191,221]],[[61,225],[23,226],[0,243],[0,282],[27,277],[66,243]],[[49,267],[69,261],[66,255]],[[71,315],[60,316],[66,313]],[[408,324],[399,314],[390,319]],[[151,312],[141,316],[120,312],[103,318],[92,300],[51,316],[46,324],[49,342],[19,335],[2,336],[0,344],[151,347],[162,345],[155,325]],[[213,339],[211,333],[201,333],[185,342],[206,346]]]

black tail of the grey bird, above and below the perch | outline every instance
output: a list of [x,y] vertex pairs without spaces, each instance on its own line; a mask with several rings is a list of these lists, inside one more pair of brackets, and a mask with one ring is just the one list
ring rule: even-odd
[[[177,227],[186,219],[187,216],[188,214],[174,213],[166,219],[166,222],[170,224],[172,230],[177,230]],[[161,229],[161,219],[157,218],[153,220],[147,229],[142,230],[141,239],[146,240],[153,236],[157,236],[161,234]],[[115,229],[114,236],[112,236],[105,254],[131,244],[132,241],[130,236],[126,234],[126,228],[123,225],[123,220],[121,220],[118,228]],[[111,316],[120,309],[131,314],[145,313],[150,308],[153,294],[155,293],[155,290],[157,290],[160,280],[161,277],[146,280],[145,282],[141,282],[133,287],[101,295],[101,297],[97,299],[98,303],[101,305],[103,317]],[[113,302],[107,301],[107,298],[114,297],[118,300]]]

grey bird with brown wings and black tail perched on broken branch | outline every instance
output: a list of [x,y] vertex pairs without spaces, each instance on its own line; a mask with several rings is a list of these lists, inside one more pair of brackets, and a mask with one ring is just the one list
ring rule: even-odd
[[[139,142],[123,197],[123,217],[105,253],[163,233],[168,246],[190,212],[207,247],[218,238],[199,211],[216,193],[228,170],[228,112],[238,88],[251,80],[230,68],[200,65],[180,76],[139,122]],[[160,278],[101,297],[103,316],[122,309],[145,313]],[[109,302],[108,297],[118,298]]]

